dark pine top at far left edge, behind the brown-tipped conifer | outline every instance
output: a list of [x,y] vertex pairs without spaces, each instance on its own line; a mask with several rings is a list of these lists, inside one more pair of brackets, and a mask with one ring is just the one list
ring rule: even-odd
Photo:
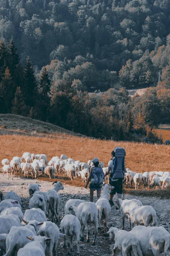
[[0,41],[0,81],[2,81],[6,67],[8,65],[8,58],[8,49],[5,45],[5,42],[2,40]]

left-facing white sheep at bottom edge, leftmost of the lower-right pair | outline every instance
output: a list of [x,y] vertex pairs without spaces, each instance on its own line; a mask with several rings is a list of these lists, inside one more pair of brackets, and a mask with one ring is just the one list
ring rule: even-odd
[[116,255],[117,248],[122,251],[123,256],[131,255],[132,250],[135,256],[143,255],[138,239],[133,234],[130,234],[130,232],[111,227],[108,234],[111,240],[115,240],[112,256]]

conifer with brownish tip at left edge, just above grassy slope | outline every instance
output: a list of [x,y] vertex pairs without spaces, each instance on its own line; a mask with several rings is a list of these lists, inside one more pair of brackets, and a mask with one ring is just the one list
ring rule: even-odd
[[12,81],[8,67],[6,67],[0,83],[1,113],[11,113],[13,90],[14,82]]

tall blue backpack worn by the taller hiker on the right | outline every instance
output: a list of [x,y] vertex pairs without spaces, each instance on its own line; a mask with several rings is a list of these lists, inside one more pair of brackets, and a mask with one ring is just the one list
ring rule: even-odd
[[124,167],[125,167],[125,149],[117,147],[114,149],[115,157],[113,159],[113,172],[111,173],[112,179],[124,178]]

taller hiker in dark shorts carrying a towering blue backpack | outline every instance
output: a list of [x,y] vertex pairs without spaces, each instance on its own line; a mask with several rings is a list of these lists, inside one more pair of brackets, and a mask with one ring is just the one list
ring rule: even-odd
[[122,197],[123,192],[123,183],[125,177],[125,149],[122,147],[117,147],[111,152],[112,158],[108,162],[108,170],[105,173],[105,176],[110,173],[109,184],[114,187],[110,192],[110,205],[113,204],[113,196],[118,195],[118,198]]

